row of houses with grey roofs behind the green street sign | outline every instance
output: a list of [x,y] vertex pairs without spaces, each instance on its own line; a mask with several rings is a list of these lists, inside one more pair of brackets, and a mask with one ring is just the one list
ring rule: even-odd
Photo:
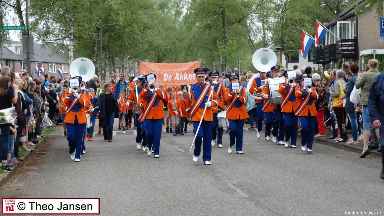
[[[46,43],[45,48],[41,44],[33,45],[35,58],[31,59],[31,74],[33,79],[37,79],[37,74],[34,69],[38,65],[39,68],[44,66],[45,73],[60,78],[57,69],[61,67],[63,76],[69,76],[69,58],[65,51],[53,48],[51,43]],[[10,67],[15,73],[26,72],[26,60],[23,59],[23,43],[20,41],[10,41],[7,45],[2,45],[1,49],[2,65]]]

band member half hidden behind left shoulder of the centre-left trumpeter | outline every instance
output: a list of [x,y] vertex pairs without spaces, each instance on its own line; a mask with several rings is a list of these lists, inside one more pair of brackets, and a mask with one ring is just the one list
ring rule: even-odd
[[[145,75],[140,75],[140,76],[137,77],[137,80],[139,81],[139,82],[136,82],[137,86],[133,87],[132,92],[131,92],[131,94],[128,97],[128,102],[126,104],[128,107],[131,106],[134,103],[139,104],[137,101],[139,101],[139,95],[140,95],[140,93],[141,93],[141,91],[143,89],[143,85],[142,84],[146,81],[146,76]],[[143,109],[141,109],[141,112],[142,111],[143,111]],[[140,112],[140,114],[141,114],[141,112]],[[136,132],[137,132],[137,135],[136,135],[136,148],[137,148],[137,150],[139,150],[139,149],[141,149],[141,146],[142,146],[142,150],[145,152],[147,150],[147,137],[146,137],[145,128],[142,127],[142,125],[144,125],[144,123],[141,124],[140,121],[139,121],[139,115],[134,114],[134,116],[135,116],[135,125],[136,125]],[[144,122],[144,120],[143,120],[143,122]]]

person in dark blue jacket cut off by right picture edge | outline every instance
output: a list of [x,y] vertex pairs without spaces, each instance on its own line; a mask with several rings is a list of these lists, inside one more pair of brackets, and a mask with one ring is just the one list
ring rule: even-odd
[[381,152],[382,170],[380,178],[384,180],[384,73],[375,77],[368,97],[369,117],[373,126],[379,128],[379,150]]

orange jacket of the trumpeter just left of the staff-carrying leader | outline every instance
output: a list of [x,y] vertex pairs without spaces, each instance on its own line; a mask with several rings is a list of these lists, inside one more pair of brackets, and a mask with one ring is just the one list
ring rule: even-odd
[[146,115],[145,119],[164,119],[166,117],[162,102],[162,100],[165,98],[164,92],[158,88],[156,92],[153,92],[153,94],[157,94],[157,97],[154,100],[154,104],[152,104],[152,107],[148,107],[148,109],[146,109],[151,102],[152,92],[149,91],[148,87],[143,89],[139,96],[144,99],[143,101],[146,101],[146,107],[144,108],[144,103],[140,103],[139,107],[144,109],[143,115]]

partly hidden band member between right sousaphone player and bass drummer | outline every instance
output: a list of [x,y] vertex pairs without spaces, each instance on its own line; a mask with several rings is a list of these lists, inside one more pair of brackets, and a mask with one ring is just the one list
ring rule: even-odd
[[[271,72],[266,73],[266,78],[272,78],[273,75]],[[264,98],[264,103],[262,111],[264,112],[265,117],[265,140],[271,140],[271,127],[273,125],[273,109],[276,105],[271,105],[271,99],[269,98],[268,85],[263,86],[262,88],[262,97]],[[257,134],[257,137],[259,135]]]

